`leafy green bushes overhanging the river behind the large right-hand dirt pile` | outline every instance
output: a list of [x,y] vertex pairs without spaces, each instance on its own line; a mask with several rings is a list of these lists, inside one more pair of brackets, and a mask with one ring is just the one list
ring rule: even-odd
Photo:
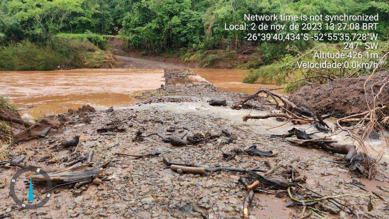
[[[382,51],[387,50],[388,43],[378,42],[377,49],[370,49],[369,53],[380,54],[377,57],[366,57],[366,50],[364,48],[358,49],[343,49],[343,44],[323,44],[317,43],[314,48],[307,51],[299,51],[298,48],[289,48],[297,55],[285,55],[284,58],[273,62],[270,65],[263,65],[258,69],[251,70],[251,72],[243,79],[243,83],[262,83],[275,82],[277,85],[286,85],[287,92],[293,92],[299,87],[305,85],[305,81],[316,84],[327,83],[328,80],[334,80],[338,78],[356,78],[363,75],[371,74],[374,66],[369,69],[368,67],[362,66],[361,68],[353,68],[353,62],[378,63],[384,53]],[[339,59],[324,59],[316,58],[315,54],[322,53],[344,53],[345,58]],[[356,54],[356,55],[355,55]],[[360,57],[358,56],[360,55]],[[322,68],[322,69],[310,69],[310,68],[298,68],[298,63],[317,63],[324,62],[327,64],[337,63],[349,63],[348,68]],[[385,66],[385,64],[383,65]],[[385,67],[382,69],[385,70]]]

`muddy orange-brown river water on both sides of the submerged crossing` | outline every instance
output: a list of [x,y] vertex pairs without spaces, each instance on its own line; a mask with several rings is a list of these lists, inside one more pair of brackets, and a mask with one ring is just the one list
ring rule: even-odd
[[[241,83],[247,70],[195,69],[201,78],[226,91],[252,94],[275,85]],[[33,120],[44,114],[64,113],[84,104],[95,108],[126,106],[136,91],[152,90],[165,83],[163,69],[72,69],[59,71],[0,71],[0,95]]]

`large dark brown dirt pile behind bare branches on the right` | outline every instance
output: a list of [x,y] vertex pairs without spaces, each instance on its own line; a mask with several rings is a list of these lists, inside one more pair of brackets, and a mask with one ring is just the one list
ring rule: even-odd
[[[373,96],[384,85],[385,78],[389,77],[389,71],[374,74],[366,84],[366,95],[363,84],[369,76],[359,78],[341,78],[322,85],[307,85],[300,87],[290,95],[289,100],[297,106],[304,106],[311,111],[326,110],[334,116],[352,115],[369,110],[368,101],[373,102]],[[386,80],[387,81],[387,80]],[[371,87],[373,94],[371,93]],[[389,103],[389,84],[386,84],[377,99],[376,106]]]

